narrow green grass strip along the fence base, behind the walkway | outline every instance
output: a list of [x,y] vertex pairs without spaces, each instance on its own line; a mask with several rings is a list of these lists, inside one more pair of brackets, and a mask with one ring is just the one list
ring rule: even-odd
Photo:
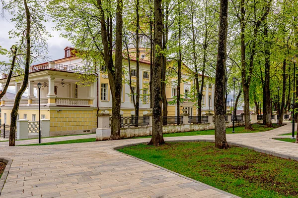
[[[235,133],[256,133],[263,131],[270,131],[272,129],[281,127],[282,125],[273,124],[273,127],[266,127],[262,124],[253,124],[252,127],[254,130],[247,130],[243,127],[235,127]],[[226,134],[231,134],[233,128],[227,128]],[[178,132],[178,133],[168,133],[163,134],[163,137],[177,137],[177,136],[200,136],[200,135],[214,135],[214,129],[205,130],[205,131],[191,131],[191,132]],[[135,138],[151,138],[151,136],[135,137]]]

